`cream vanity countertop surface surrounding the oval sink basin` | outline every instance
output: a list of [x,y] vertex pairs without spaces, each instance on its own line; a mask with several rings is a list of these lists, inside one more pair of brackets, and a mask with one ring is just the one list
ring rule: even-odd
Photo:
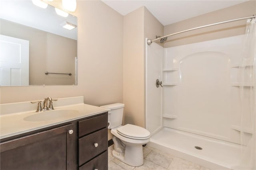
[[109,109],[103,107],[97,107],[83,103],[59,106],[54,108],[54,110],[71,109],[76,110],[76,112],[65,117],[60,117],[58,119],[52,119],[47,121],[26,121],[25,118],[30,115],[44,114],[50,111],[26,111],[21,113],[3,114],[0,116],[0,139],[109,111]]

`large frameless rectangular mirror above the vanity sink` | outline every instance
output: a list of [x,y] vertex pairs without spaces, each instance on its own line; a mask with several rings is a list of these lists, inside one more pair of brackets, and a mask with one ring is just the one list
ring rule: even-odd
[[76,25],[75,16],[60,16],[49,4],[1,0],[0,85],[77,85]]

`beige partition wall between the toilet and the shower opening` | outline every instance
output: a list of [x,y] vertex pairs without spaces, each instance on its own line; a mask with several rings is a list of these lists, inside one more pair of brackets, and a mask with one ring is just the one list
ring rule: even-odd
[[145,7],[124,16],[124,124],[145,127],[145,39],[163,35],[163,29]]

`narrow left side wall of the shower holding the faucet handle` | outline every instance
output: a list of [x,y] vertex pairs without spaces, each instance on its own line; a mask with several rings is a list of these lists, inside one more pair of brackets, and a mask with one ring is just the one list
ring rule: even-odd
[[162,88],[156,88],[156,79],[162,80],[163,47],[146,43],[146,129],[151,134],[162,127]]

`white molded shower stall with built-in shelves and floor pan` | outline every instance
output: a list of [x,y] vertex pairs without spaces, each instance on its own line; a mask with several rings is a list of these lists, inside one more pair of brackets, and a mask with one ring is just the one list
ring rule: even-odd
[[[243,116],[246,127],[241,126],[241,108],[247,108],[241,100],[250,100],[254,88],[253,82],[244,83],[241,97],[244,37],[169,48],[146,44],[149,146],[210,169],[244,168],[241,148],[254,133],[250,114]],[[156,79],[162,87],[156,87]]]

